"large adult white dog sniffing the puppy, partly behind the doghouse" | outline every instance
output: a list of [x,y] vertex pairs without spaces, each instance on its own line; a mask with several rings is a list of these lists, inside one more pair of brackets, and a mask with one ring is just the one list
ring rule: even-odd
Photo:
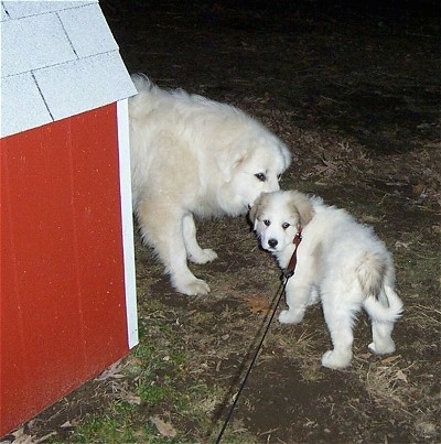
[[206,294],[207,283],[186,260],[217,257],[196,241],[193,215],[238,216],[262,192],[279,189],[290,164],[287,147],[268,129],[228,105],[165,91],[133,75],[129,100],[133,210],[151,245],[184,294]]

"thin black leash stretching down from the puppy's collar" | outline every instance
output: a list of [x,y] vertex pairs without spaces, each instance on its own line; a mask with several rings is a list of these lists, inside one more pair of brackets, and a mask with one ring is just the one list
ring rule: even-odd
[[239,399],[239,396],[240,396],[241,391],[244,390],[245,385],[247,383],[248,376],[249,376],[249,373],[251,372],[252,366],[254,366],[255,362],[256,362],[256,359],[257,359],[257,356],[259,355],[260,348],[261,348],[261,346],[263,345],[263,340],[265,340],[265,338],[266,338],[266,336],[267,336],[267,333],[268,333],[268,331],[269,331],[269,327],[270,327],[270,325],[271,325],[271,322],[272,322],[272,320],[273,320],[273,317],[275,317],[275,315],[276,315],[277,307],[279,306],[280,300],[282,299],[282,295],[283,295],[283,293],[284,293],[284,289],[287,288],[288,280],[294,274],[295,266],[297,266],[297,250],[298,250],[299,243],[300,243],[301,241],[302,241],[302,227],[299,227],[298,232],[295,234],[294,239],[292,240],[292,242],[293,242],[294,246],[295,246],[295,249],[294,249],[294,251],[292,252],[292,256],[291,256],[291,259],[290,259],[290,261],[289,261],[289,263],[288,263],[287,269],[283,271],[284,281],[282,281],[282,283],[280,284],[279,290],[278,290],[278,292],[276,293],[276,296],[275,296],[275,299],[273,299],[272,302],[271,302],[271,304],[272,304],[273,301],[276,301],[275,307],[272,308],[271,316],[270,316],[270,318],[269,318],[269,321],[268,321],[268,324],[267,324],[267,326],[266,326],[266,328],[265,328],[265,332],[263,332],[263,334],[262,334],[262,337],[261,337],[261,339],[260,339],[260,343],[259,343],[259,345],[257,346],[255,356],[252,357],[251,362],[250,362],[249,366],[248,366],[248,370],[247,370],[247,372],[245,373],[245,377],[244,377],[244,379],[243,379],[243,381],[241,381],[241,383],[240,383],[240,387],[239,387],[239,390],[238,390],[238,392],[237,392],[237,394],[236,394],[236,397],[235,397],[235,400],[233,401],[233,404],[232,404],[232,407],[229,408],[227,418],[226,418],[225,421],[224,421],[224,425],[222,426],[222,430],[220,430],[219,434],[217,435],[216,444],[219,444],[219,443],[220,443],[220,440],[222,440],[222,436],[224,435],[225,429],[227,427],[227,425],[228,425],[228,423],[229,423],[229,420],[232,419],[233,412],[234,412],[234,410],[235,410],[235,408],[236,408],[237,400]]

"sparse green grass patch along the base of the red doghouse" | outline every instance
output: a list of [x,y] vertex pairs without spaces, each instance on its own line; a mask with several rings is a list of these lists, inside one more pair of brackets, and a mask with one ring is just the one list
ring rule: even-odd
[[[173,326],[162,317],[142,320],[140,344],[121,365],[118,378],[108,383],[114,401],[103,411],[84,418],[69,435],[69,442],[186,442],[186,431],[181,431],[180,424],[172,424],[175,437],[163,436],[150,418],[159,414],[193,421],[200,408],[197,402],[192,402],[194,389],[183,383],[187,362],[189,356],[182,350],[181,337]],[[202,387],[198,398],[206,400],[208,397]],[[205,390],[211,391],[209,388]],[[205,410],[203,408],[203,414],[206,414]]]

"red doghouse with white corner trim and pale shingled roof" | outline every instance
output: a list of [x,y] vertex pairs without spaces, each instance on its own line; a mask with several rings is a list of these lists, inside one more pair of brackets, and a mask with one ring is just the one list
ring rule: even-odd
[[118,46],[97,1],[1,8],[0,436],[138,342]]

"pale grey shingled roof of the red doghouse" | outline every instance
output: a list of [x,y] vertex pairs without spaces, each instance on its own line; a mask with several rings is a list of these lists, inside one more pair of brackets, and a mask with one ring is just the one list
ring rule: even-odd
[[136,94],[97,0],[1,1],[1,137]]

